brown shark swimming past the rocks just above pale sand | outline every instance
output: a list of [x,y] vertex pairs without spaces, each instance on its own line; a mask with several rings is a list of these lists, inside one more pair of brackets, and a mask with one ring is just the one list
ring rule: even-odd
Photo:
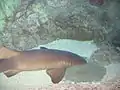
[[67,68],[87,63],[84,58],[72,52],[45,47],[18,52],[15,56],[0,60],[0,72],[7,77],[22,71],[46,70],[55,84],[63,79]]

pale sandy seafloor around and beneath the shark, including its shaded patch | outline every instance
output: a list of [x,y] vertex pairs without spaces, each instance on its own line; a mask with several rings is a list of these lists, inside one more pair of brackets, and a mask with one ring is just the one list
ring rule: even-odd
[[98,47],[92,41],[61,39],[40,47],[67,50],[85,57],[88,64],[67,69],[59,84],[52,84],[45,70],[21,72],[11,78],[0,74],[0,90],[120,90],[120,64],[105,67],[89,61]]

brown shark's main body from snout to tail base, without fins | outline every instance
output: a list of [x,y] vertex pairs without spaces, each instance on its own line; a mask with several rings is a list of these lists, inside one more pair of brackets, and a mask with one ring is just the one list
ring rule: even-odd
[[17,69],[30,71],[86,64],[86,61],[76,54],[54,49],[23,51],[10,59],[17,62]]

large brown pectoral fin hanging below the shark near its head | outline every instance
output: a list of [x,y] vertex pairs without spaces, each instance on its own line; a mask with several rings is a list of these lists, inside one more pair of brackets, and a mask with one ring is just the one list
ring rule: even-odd
[[51,77],[53,83],[59,83],[64,75],[66,68],[48,69],[46,72]]

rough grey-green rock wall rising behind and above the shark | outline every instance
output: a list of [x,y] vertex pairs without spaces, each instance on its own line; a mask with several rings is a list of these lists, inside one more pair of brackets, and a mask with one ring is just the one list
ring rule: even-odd
[[7,16],[1,16],[1,44],[14,49],[30,49],[56,39],[100,43],[108,41],[110,33],[120,28],[117,0],[105,0],[101,6],[91,5],[89,0],[4,2],[6,6],[11,5],[7,10],[12,14],[2,9]]

